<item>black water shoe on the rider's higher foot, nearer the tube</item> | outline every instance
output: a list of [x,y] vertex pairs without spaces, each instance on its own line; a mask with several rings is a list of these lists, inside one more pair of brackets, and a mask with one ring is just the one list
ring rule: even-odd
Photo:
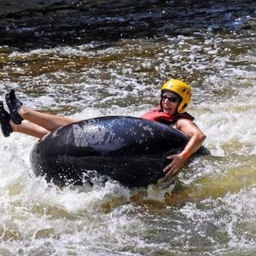
[[23,103],[16,98],[14,89],[10,90],[9,93],[5,95],[5,100],[9,108],[10,119],[12,119],[15,125],[20,125],[23,119],[18,113],[18,110]]

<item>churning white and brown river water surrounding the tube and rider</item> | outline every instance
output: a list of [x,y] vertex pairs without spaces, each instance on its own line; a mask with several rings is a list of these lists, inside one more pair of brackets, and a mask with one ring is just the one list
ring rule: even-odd
[[174,189],[58,188],[32,173],[35,138],[1,134],[0,255],[255,255],[255,1],[57,2],[0,1],[1,100],[139,116],[183,79],[212,155]]

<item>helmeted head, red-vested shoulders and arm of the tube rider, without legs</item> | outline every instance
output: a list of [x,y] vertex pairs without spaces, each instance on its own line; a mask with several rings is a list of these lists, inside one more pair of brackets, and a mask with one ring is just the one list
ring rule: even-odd
[[167,157],[172,162],[166,166],[164,172],[167,175],[175,175],[190,155],[201,147],[206,135],[195,125],[194,117],[185,112],[192,97],[191,88],[188,84],[181,80],[171,79],[163,84],[160,91],[160,106],[144,113],[142,118],[172,125],[173,128],[182,131],[189,137],[189,143],[183,152]]

